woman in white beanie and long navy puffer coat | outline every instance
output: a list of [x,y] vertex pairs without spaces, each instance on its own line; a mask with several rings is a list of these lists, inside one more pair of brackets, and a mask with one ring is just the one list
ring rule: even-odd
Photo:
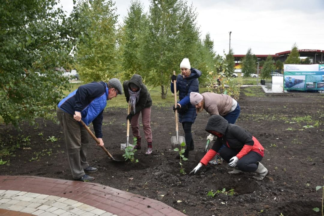
[[[197,112],[195,106],[190,103],[190,93],[199,92],[198,78],[202,75],[202,72],[191,68],[189,59],[184,58],[180,63],[181,74],[172,75],[171,77],[171,92],[174,92],[174,83],[176,80],[176,89],[179,91],[179,102],[177,107],[173,106],[173,111],[177,109],[179,113],[179,122],[182,124],[182,128],[185,134],[186,150],[183,156],[188,158],[189,151],[194,149],[194,143],[192,139],[191,126],[195,122]],[[180,155],[177,155],[179,158]]]

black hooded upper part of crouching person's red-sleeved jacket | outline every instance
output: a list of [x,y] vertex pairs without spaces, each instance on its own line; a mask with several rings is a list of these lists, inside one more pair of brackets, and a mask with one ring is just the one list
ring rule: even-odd
[[223,134],[214,142],[212,149],[215,152],[218,152],[223,144],[231,149],[237,149],[237,152],[241,151],[244,145],[254,145],[252,134],[238,125],[229,124],[222,116],[211,116],[205,130],[212,134],[213,131]]

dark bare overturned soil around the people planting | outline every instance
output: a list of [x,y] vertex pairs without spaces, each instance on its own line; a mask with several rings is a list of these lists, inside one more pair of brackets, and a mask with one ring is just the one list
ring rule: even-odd
[[[205,111],[192,126],[195,149],[183,162],[187,174],[180,174],[177,153],[170,142],[175,135],[172,106],[153,104],[154,153],[144,155],[146,142],[142,140],[142,149],[135,153],[138,163],[116,163],[91,142],[87,158],[91,166],[98,168],[91,175],[94,182],[160,200],[190,216],[320,215],[312,209],[322,206],[322,191],[315,188],[324,183],[324,94],[265,94],[259,87],[242,88],[238,102],[241,115],[237,125],[250,131],[265,148],[262,164],[269,174],[262,181],[253,179],[253,173],[229,175],[231,168],[226,163],[207,165],[198,174],[189,175],[201,158],[199,148],[206,144],[208,134],[204,128],[209,114]],[[104,112],[103,141],[116,157],[123,154],[120,144],[126,142],[126,113],[126,108],[108,108]],[[22,124],[21,129],[18,132],[11,126],[0,126],[0,146],[19,144],[14,154],[2,157],[10,160],[10,165],[1,165],[0,175],[73,180],[59,125],[39,120],[38,127]],[[179,135],[183,135],[180,127]],[[51,142],[52,136],[57,141]],[[223,188],[234,189],[235,194],[207,196],[208,191]]]

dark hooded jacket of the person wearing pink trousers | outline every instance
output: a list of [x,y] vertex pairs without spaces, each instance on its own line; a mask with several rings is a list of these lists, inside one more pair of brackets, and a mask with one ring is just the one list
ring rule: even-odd
[[150,93],[148,92],[146,86],[142,83],[142,76],[138,74],[134,74],[132,78],[128,81],[124,81],[123,83],[123,88],[124,88],[124,93],[126,97],[126,101],[128,103],[129,101],[129,92],[128,89],[130,88],[130,84],[133,83],[135,84],[138,88],[141,89],[140,95],[139,95],[139,101],[137,101],[136,106],[135,106],[135,112],[132,114],[139,113],[142,109],[144,108],[149,108],[152,106],[152,98],[150,96]]

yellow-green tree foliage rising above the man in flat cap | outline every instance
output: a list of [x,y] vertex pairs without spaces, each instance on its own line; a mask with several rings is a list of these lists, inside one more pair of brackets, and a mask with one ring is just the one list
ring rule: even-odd
[[118,52],[116,48],[117,15],[111,0],[80,0],[78,11],[89,23],[84,40],[77,44],[76,69],[83,82],[108,81],[118,77]]

